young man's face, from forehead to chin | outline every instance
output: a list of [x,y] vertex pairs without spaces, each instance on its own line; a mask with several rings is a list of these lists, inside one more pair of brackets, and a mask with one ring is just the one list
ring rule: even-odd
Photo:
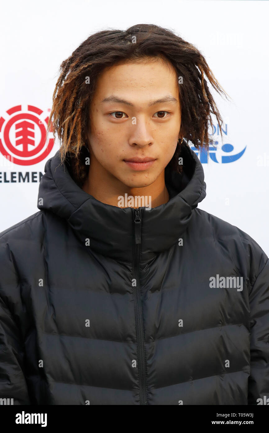
[[[112,97],[124,101],[109,100]],[[166,102],[158,102],[170,97]],[[104,99],[108,99],[104,101]],[[174,155],[180,131],[177,74],[160,59],[103,71],[90,107],[90,164],[128,187],[152,184]],[[148,164],[128,163],[153,158]]]

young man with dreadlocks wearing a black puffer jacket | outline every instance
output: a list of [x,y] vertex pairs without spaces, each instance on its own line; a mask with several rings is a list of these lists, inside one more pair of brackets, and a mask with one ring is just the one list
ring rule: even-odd
[[0,234],[0,397],[269,397],[269,259],[197,208],[187,143],[208,147],[210,113],[222,125],[205,75],[223,93],[193,45],[149,25],[92,35],[62,63],[39,211]]

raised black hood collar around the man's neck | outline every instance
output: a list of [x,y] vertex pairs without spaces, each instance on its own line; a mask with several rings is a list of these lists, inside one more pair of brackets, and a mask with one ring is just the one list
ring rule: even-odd
[[[185,143],[180,156],[183,174],[165,168],[165,184],[170,200],[152,209],[140,207],[141,261],[149,260],[178,241],[186,230],[199,202],[206,197],[204,171],[196,153]],[[67,163],[67,164],[66,164]],[[104,204],[83,191],[61,164],[60,152],[47,160],[38,191],[38,209],[65,219],[85,245],[112,259],[132,262],[134,209]],[[39,204],[42,198],[43,204]]]

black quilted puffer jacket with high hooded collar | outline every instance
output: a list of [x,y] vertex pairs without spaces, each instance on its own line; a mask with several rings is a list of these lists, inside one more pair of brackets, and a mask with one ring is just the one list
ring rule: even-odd
[[168,203],[136,211],[82,191],[59,152],[47,161],[40,211],[0,233],[0,397],[55,405],[269,397],[269,259],[246,233],[198,209],[203,167],[188,146],[181,156],[183,177],[165,171]]

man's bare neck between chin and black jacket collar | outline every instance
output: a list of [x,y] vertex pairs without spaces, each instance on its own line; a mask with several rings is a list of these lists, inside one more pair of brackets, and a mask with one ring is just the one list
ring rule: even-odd
[[[165,186],[165,171],[152,184],[146,187],[134,188],[123,184],[100,164],[95,164],[93,158],[82,190],[95,197],[96,200],[116,207],[143,206],[143,204],[136,205],[135,197],[138,196],[144,197],[146,205],[150,203],[150,207],[160,206],[169,200],[169,193]],[[119,197],[124,198],[126,197],[125,194],[127,194],[129,203],[126,204],[125,201],[124,205],[122,205],[122,202],[119,204]],[[133,200],[130,200],[130,198],[133,198]]]

